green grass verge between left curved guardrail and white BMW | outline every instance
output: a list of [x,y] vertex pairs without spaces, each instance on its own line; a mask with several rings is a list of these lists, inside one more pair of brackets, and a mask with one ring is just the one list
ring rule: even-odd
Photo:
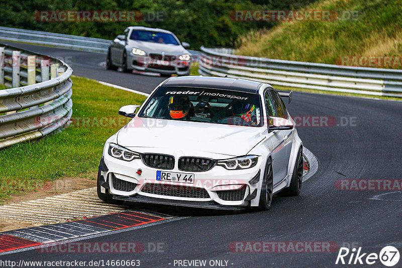
[[39,142],[0,150],[0,204],[48,181],[95,172],[105,141],[129,120],[118,115],[119,108],[146,98],[87,78],[72,81],[73,117],[67,128]]

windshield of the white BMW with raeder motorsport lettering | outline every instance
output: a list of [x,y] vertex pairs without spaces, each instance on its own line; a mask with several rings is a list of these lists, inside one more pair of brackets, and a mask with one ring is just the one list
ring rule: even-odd
[[196,87],[160,87],[140,117],[207,123],[260,126],[258,94]]

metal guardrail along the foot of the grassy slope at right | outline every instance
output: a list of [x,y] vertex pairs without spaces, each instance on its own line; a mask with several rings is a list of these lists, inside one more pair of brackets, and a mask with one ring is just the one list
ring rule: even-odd
[[247,57],[233,52],[201,47],[199,72],[277,86],[402,97],[402,70]]

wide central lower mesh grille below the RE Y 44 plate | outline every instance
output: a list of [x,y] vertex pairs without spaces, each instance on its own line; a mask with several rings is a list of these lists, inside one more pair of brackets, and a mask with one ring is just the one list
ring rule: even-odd
[[155,195],[187,197],[187,198],[210,198],[207,190],[192,186],[166,185],[147,183],[141,192]]

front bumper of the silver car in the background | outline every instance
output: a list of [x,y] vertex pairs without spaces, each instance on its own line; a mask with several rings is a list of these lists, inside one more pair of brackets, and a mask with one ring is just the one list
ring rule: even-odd
[[163,74],[185,75],[189,73],[191,67],[191,61],[162,61],[133,54],[127,56],[127,61],[127,66],[131,66],[132,69]]

